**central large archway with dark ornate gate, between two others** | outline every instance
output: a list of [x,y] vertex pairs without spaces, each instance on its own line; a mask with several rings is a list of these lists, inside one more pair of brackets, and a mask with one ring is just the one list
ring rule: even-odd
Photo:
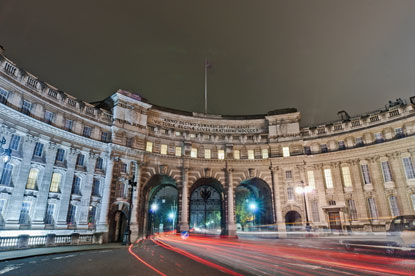
[[225,229],[223,188],[215,178],[201,178],[190,190],[191,231],[221,234]]

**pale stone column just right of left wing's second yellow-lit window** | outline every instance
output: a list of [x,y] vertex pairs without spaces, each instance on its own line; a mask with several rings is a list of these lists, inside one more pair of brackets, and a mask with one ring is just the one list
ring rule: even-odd
[[71,148],[69,150],[69,154],[67,157],[67,171],[65,175],[65,183],[62,185],[62,195],[59,205],[59,211],[56,216],[56,228],[58,229],[66,229],[67,223],[66,223],[66,217],[68,216],[68,208],[69,208],[69,201],[71,199],[71,193],[72,193],[72,184],[73,184],[73,178],[74,178],[74,172],[75,172],[75,162],[76,157],[78,155],[77,150]]

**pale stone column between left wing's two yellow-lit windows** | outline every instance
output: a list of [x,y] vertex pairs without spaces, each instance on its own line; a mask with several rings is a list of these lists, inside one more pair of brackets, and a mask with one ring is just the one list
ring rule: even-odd
[[[50,142],[46,154],[46,166],[43,172],[43,178],[39,181],[39,193],[32,219],[32,229],[43,229],[45,226],[44,218],[46,212],[46,205],[49,197],[50,182],[52,180],[53,166],[55,165],[56,151],[58,145]],[[63,178],[63,177],[62,177]],[[61,187],[59,187],[61,188]]]

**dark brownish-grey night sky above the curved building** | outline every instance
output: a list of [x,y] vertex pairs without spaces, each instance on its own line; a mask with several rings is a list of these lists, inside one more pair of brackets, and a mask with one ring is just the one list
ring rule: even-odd
[[85,101],[122,88],[209,113],[296,107],[302,125],[415,95],[415,1],[0,1],[19,67]]

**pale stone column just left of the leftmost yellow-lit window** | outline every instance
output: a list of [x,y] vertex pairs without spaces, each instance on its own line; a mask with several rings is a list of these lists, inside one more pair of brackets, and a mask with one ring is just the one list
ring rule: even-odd
[[[1,139],[1,138],[0,138]],[[21,147],[23,147],[22,153],[23,158],[18,168],[16,181],[13,183],[13,193],[9,198],[9,204],[5,210],[6,218],[6,229],[18,229],[19,228],[19,217],[20,210],[22,209],[22,202],[24,199],[24,191],[26,189],[26,182],[29,176],[30,163],[33,157],[33,150],[36,145],[36,140],[34,137],[28,135],[25,137],[25,140]],[[14,172],[13,172],[14,175]]]

